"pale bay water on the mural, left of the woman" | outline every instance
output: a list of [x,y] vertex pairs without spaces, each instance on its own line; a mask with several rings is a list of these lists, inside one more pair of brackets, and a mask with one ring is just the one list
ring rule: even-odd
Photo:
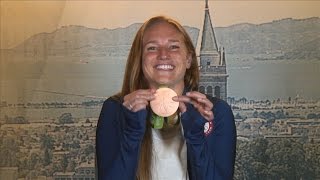
[[96,58],[89,63],[54,59],[45,62],[38,72],[31,70],[32,64],[19,63],[14,66],[25,66],[29,70],[23,74],[19,74],[19,67],[6,71],[7,78],[0,83],[2,101],[82,102],[92,99],[83,96],[103,99],[118,92],[125,62],[123,58]]

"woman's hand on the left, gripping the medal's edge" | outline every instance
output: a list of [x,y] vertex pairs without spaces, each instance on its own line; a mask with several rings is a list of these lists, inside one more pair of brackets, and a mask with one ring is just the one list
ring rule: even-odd
[[123,98],[122,105],[132,112],[137,112],[142,109],[146,109],[149,101],[155,98],[155,89],[139,89],[130,94],[127,94]]

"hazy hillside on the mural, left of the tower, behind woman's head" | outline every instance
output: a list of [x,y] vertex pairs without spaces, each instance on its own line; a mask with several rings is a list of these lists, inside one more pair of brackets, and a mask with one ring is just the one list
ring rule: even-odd
[[[14,49],[28,56],[127,56],[140,26],[141,24],[132,24],[117,29],[64,26],[52,33],[36,34]],[[193,27],[185,28],[193,42],[196,42],[199,30]]]

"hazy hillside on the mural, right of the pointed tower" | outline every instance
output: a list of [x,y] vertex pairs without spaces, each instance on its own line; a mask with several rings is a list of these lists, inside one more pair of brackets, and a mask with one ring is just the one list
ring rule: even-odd
[[282,19],[264,24],[216,28],[219,44],[229,54],[257,57],[320,59],[320,19]]

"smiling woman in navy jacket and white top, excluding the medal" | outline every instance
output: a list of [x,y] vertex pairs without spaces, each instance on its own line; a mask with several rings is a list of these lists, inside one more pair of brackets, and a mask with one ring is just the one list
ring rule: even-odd
[[[99,179],[232,179],[232,111],[224,101],[198,92],[198,83],[195,48],[184,28],[164,16],[146,21],[133,41],[121,92],[101,110]],[[179,108],[157,130],[149,103],[162,86],[177,93],[172,99]]]

